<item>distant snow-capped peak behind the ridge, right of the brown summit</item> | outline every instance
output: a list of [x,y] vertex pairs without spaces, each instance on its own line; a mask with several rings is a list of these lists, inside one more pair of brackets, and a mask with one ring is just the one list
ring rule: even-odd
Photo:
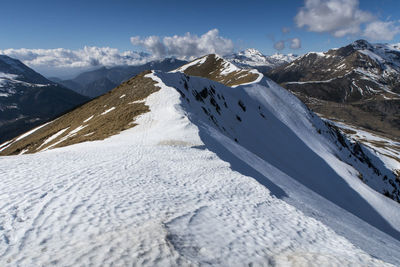
[[260,51],[249,48],[224,57],[226,60],[241,68],[253,68],[265,73],[285,63],[290,63],[297,58],[294,54],[274,54],[265,56]]

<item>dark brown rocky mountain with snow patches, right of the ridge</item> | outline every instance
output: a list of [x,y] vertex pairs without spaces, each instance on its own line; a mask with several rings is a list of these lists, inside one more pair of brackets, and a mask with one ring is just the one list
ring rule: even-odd
[[358,40],[325,53],[308,53],[268,76],[329,119],[392,139],[400,136],[400,50],[396,45]]

